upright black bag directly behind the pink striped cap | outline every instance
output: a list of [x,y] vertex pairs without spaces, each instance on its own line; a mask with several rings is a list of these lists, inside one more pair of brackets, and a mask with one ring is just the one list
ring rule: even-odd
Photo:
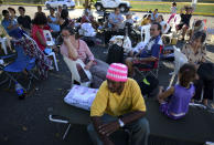
[[122,61],[124,61],[124,48],[117,44],[110,45],[106,62],[108,64],[111,64],[111,63],[122,63]]

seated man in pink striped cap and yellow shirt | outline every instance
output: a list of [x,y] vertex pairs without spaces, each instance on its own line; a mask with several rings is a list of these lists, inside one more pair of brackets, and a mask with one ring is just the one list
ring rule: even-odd
[[105,81],[90,107],[92,123],[87,131],[96,145],[114,145],[110,135],[119,128],[132,133],[131,145],[147,145],[149,123],[140,87],[127,77],[128,69],[110,64]]

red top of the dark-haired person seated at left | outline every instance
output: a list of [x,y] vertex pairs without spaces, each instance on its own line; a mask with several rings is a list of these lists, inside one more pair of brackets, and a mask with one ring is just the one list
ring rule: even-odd
[[40,40],[38,39],[36,37],[36,32],[40,32],[40,34],[42,35],[42,39],[45,40],[44,38],[44,34],[43,34],[43,29],[39,28],[38,25],[33,24],[33,28],[32,28],[32,38],[33,40],[35,40],[35,42],[38,43],[39,48],[44,51],[45,49],[45,45],[43,45]]

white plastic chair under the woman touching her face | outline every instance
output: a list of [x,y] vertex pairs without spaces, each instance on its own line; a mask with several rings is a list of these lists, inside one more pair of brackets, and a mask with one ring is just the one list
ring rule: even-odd
[[[90,83],[92,83],[92,73],[88,71],[88,70],[85,70],[85,64],[83,63],[82,60],[76,60],[76,61],[73,61],[71,60],[67,56],[63,56],[63,60],[65,61],[66,65],[68,66],[71,73],[72,73],[72,85],[74,84],[74,80],[77,81],[81,85],[83,86],[89,86]],[[87,75],[88,77],[88,82],[82,82],[81,81],[81,75],[78,73],[78,70],[76,68],[76,65],[79,64],[82,66],[82,69],[84,70],[85,74]]]

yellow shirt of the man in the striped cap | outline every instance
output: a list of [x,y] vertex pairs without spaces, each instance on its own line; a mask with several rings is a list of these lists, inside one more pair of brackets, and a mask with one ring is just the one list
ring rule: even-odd
[[104,113],[120,116],[132,111],[146,112],[145,100],[138,83],[128,79],[122,93],[118,95],[108,90],[107,81],[105,81],[93,102],[90,116],[103,116]]

